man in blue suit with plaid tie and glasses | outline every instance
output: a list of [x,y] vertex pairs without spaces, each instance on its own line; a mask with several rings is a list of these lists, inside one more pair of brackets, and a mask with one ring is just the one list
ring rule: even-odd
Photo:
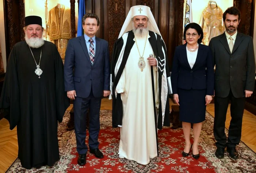
[[[65,53],[64,80],[68,98],[74,100],[74,121],[78,164],[86,164],[86,113],[89,113],[89,149],[97,158],[99,150],[99,110],[102,95],[110,94],[109,46],[95,37],[99,29],[97,15],[87,13],[82,19],[84,35],[70,39]],[[74,69],[74,73],[73,73]]]

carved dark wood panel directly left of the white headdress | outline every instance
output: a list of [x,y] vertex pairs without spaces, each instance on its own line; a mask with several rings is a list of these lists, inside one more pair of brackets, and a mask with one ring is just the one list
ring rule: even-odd
[[[116,8],[116,3],[118,8]],[[114,42],[116,42],[125,20],[124,1],[109,1],[108,9],[108,42],[110,55],[112,55]]]

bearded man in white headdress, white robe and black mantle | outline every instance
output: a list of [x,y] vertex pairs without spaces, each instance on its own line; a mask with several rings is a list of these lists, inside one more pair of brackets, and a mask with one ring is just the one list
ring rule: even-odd
[[131,7],[114,44],[110,79],[119,157],[146,165],[158,156],[157,129],[170,126],[172,93],[165,43],[150,7]]

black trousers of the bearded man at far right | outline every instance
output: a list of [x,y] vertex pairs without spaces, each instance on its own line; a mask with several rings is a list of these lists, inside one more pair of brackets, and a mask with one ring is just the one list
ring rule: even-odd
[[[229,106],[229,101],[231,101],[230,105],[230,113],[231,113],[231,121],[229,126],[229,134],[228,138],[226,138],[225,134],[225,121],[227,114],[227,107]],[[213,133],[217,147],[236,147],[239,144],[241,139],[241,131],[242,131],[242,117],[244,114],[244,106],[245,106],[245,97],[235,98],[231,89],[228,97],[214,98],[214,127]]]

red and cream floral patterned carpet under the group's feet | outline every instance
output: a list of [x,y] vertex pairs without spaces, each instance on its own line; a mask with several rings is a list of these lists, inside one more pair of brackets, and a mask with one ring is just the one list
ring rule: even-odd
[[[213,117],[206,113],[202,133],[199,139],[199,160],[182,157],[184,135],[182,129],[173,130],[165,127],[158,131],[159,157],[150,160],[148,165],[140,165],[135,161],[118,158],[120,139],[119,129],[111,128],[111,111],[101,110],[101,131],[99,134],[99,149],[104,154],[103,159],[87,153],[85,166],[77,164],[75,131],[66,131],[68,112],[63,122],[59,124],[58,137],[60,146],[60,160],[55,166],[42,166],[39,169],[26,170],[20,165],[19,159],[7,170],[8,173],[256,173],[256,154],[243,142],[237,146],[240,153],[238,160],[233,160],[225,153],[225,158],[215,157],[215,141],[213,137]],[[192,133],[192,131],[191,131]],[[88,134],[88,133],[87,133]],[[88,146],[88,137],[86,138]]]

